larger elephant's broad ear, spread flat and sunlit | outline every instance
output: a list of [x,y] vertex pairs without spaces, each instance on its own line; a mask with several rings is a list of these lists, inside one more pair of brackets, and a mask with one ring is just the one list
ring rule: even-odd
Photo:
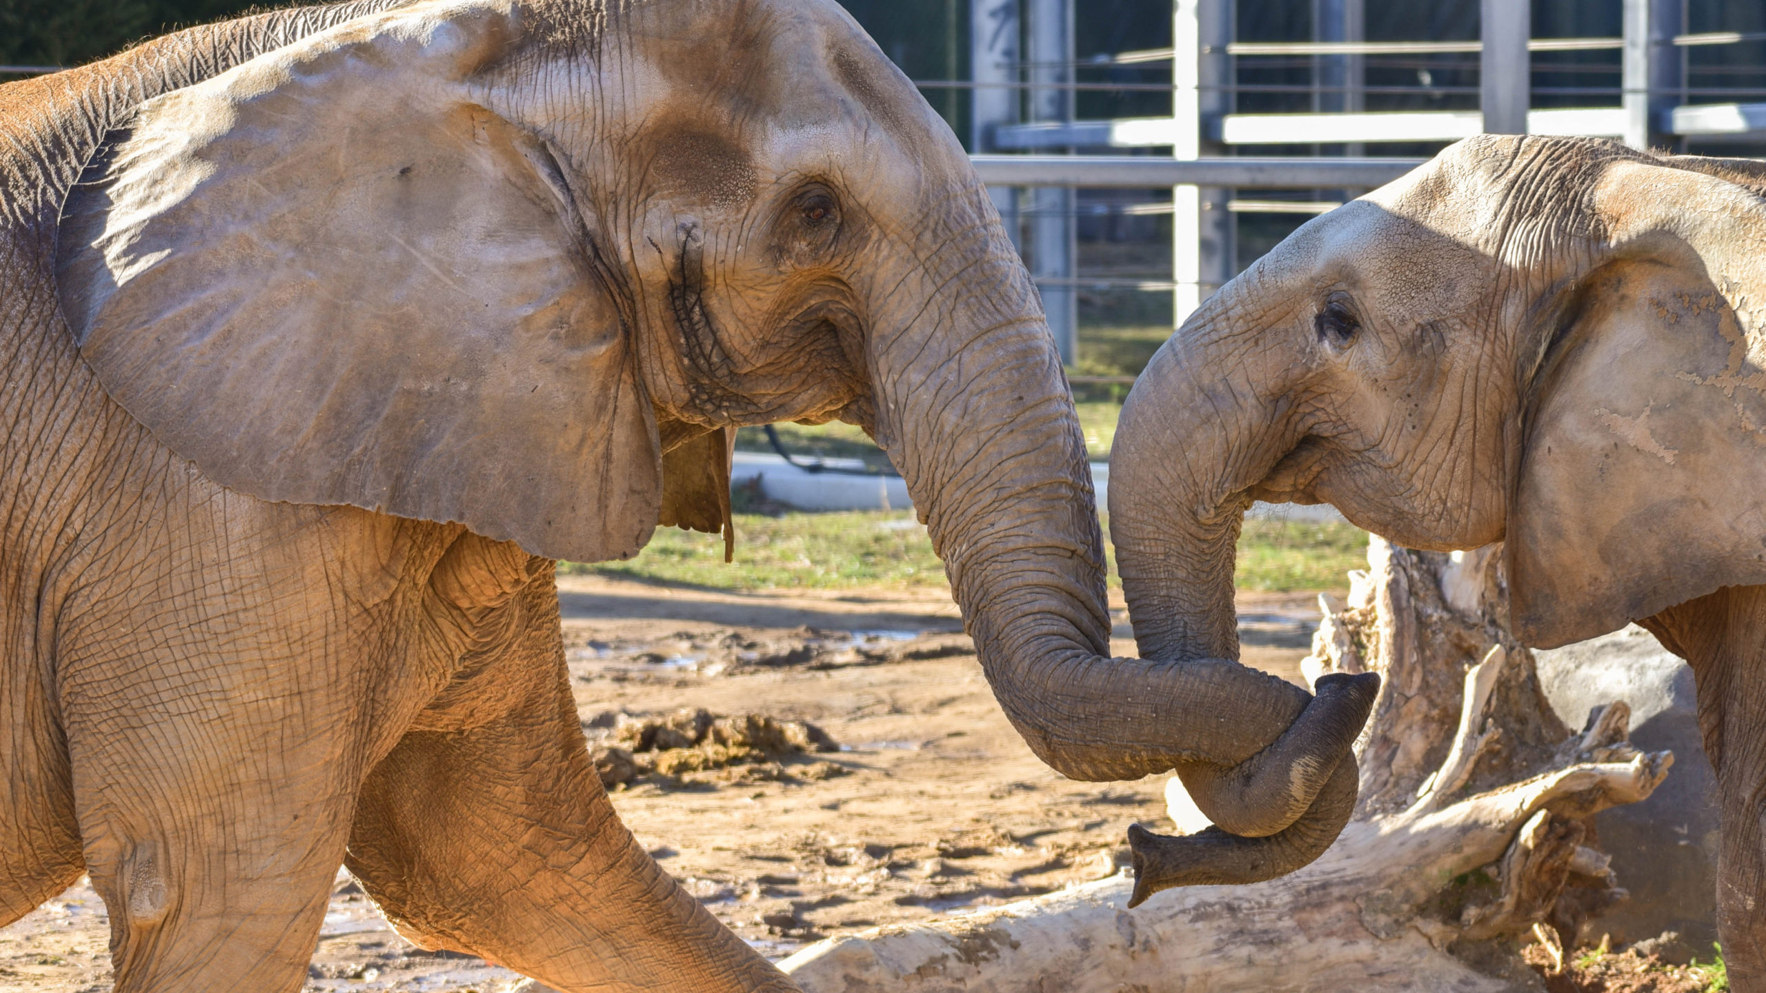
[[634,555],[660,452],[569,180],[473,102],[510,16],[360,18],[141,106],[57,276],[106,392],[223,486]]

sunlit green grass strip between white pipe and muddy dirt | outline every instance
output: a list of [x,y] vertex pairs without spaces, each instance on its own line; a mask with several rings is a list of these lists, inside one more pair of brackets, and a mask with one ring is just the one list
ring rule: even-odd
[[[1367,532],[1353,525],[1245,521],[1234,580],[1247,590],[1340,590],[1349,585],[1344,572],[1365,565]],[[729,565],[721,537],[657,528],[630,562],[565,562],[560,571],[717,590],[945,585],[945,567],[911,511],[736,514]],[[1109,572],[1120,585],[1113,555]]]

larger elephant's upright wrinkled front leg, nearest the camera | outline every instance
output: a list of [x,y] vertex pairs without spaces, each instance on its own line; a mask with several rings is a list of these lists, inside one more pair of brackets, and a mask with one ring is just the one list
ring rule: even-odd
[[295,611],[224,620],[64,659],[74,813],[117,993],[295,993],[343,862],[367,739],[348,678],[323,647],[290,650],[311,634]]

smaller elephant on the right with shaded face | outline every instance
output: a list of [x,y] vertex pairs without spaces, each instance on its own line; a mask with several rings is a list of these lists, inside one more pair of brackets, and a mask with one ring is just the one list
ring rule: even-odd
[[1766,989],[1762,196],[1748,161],[1452,145],[1300,226],[1160,346],[1109,489],[1148,659],[1233,657],[1252,500],[1420,550],[1501,541],[1531,647],[1655,633],[1697,678],[1738,989]]

